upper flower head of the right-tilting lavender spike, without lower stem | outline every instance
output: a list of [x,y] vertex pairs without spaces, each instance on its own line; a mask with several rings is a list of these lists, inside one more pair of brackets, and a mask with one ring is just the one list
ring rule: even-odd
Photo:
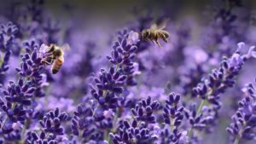
[[241,55],[241,49],[244,47],[244,43],[238,43],[236,53],[229,59],[224,57],[219,68],[213,69],[212,73],[209,74],[209,79],[193,89],[193,95],[200,96],[201,99],[207,99],[213,105],[219,106],[218,95],[224,93],[227,88],[234,86],[234,78],[239,74],[244,62],[250,57],[256,56],[253,51],[254,46],[248,50],[247,55]]

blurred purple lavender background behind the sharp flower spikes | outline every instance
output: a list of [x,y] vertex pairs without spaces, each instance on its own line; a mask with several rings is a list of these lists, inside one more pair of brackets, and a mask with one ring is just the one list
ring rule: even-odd
[[[49,86],[45,88],[47,98],[41,100],[46,104],[45,109],[59,106],[67,112],[73,112],[79,101],[88,101],[84,97],[90,97],[91,76],[96,75],[101,68],[108,67],[105,57],[110,55],[113,41],[117,39],[116,33],[124,28],[141,32],[142,28],[170,19],[166,26],[166,31],[170,32],[169,43],[160,40],[163,49],[159,49],[157,45],[145,42],[148,44],[147,49],[141,49],[138,53],[138,70],[142,74],[137,76],[138,85],[131,88],[138,97],[153,95],[159,101],[164,100],[166,89],[177,91],[187,99],[189,92],[183,89],[195,87],[201,78],[218,66],[222,56],[230,56],[236,50],[236,43],[245,42],[248,48],[256,42],[254,0],[242,1],[241,6],[235,4],[231,10],[236,15],[233,21],[218,15],[219,9],[229,4],[215,0],[46,0],[44,4],[38,5],[39,16],[35,15],[42,20],[32,23],[32,20],[27,19],[27,23],[20,24],[22,11],[30,3],[1,0],[0,23],[12,21],[21,27],[34,26],[43,30],[50,27],[50,31],[53,31],[51,39],[45,38],[49,37],[49,33],[43,32],[33,36],[28,33],[26,40],[20,35],[20,41],[38,38],[40,43],[68,43],[71,48],[65,53],[61,72],[56,75],[48,72]],[[26,32],[26,29],[20,31]],[[15,48],[18,51],[20,47],[16,45]],[[10,63],[6,79],[15,80],[19,56],[14,53]],[[212,134],[204,134],[202,143],[229,143],[225,129],[236,111],[237,100],[241,99],[241,87],[253,82],[255,70],[256,61],[250,60],[237,79],[236,87],[222,95],[223,108],[219,113],[219,124]],[[7,83],[5,81],[3,85]],[[67,105],[63,105],[64,100],[68,100]],[[197,101],[195,99],[194,102]]]

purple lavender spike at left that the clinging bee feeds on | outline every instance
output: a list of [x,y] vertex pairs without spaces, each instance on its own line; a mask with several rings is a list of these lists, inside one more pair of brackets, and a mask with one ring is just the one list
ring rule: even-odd
[[42,97],[44,93],[41,91],[44,82],[43,69],[38,52],[35,49],[32,55],[26,53],[22,57],[20,68],[16,68],[20,77],[15,83],[9,81],[7,89],[2,89],[3,98],[1,99],[1,112],[3,114],[2,126],[4,134],[9,134],[13,130],[15,124],[22,125],[26,121],[26,113],[32,113],[32,103],[35,97]]

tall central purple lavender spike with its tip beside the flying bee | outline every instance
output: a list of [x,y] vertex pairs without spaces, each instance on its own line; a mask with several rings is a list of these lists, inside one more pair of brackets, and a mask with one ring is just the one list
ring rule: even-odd
[[[120,37],[113,45],[112,55],[107,56],[113,65],[109,70],[101,69],[99,78],[95,78],[96,88],[90,90],[90,94],[98,101],[100,108],[94,114],[97,121],[104,119],[103,111],[116,109],[118,101],[123,98],[119,96],[123,93],[123,88],[136,84],[133,80],[134,62],[137,47],[134,43],[127,43],[129,35],[127,31],[119,32]],[[135,40],[133,40],[135,42]],[[137,43],[137,42],[136,42]]]

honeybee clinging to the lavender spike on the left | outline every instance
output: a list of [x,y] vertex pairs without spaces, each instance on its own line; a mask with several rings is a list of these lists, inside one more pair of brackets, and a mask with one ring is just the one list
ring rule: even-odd
[[41,62],[45,65],[52,65],[51,72],[53,74],[60,71],[62,64],[64,63],[64,50],[69,49],[69,45],[66,43],[61,47],[56,46],[55,44],[49,45],[49,50],[47,57],[44,58]]

